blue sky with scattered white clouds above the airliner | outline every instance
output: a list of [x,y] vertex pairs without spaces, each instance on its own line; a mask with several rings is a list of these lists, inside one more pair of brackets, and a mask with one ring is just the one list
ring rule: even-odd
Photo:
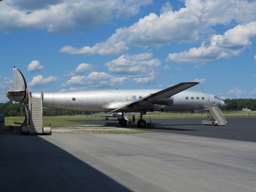
[[0,102],[20,69],[32,92],[191,88],[256,98],[256,2],[3,0]]

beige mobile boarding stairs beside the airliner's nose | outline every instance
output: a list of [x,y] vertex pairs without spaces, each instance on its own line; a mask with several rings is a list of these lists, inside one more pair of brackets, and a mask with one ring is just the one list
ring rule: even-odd
[[205,125],[226,125],[227,121],[224,117],[223,113],[221,112],[218,105],[213,102],[212,104],[205,104],[204,110],[207,112],[207,119],[202,120],[202,124]]

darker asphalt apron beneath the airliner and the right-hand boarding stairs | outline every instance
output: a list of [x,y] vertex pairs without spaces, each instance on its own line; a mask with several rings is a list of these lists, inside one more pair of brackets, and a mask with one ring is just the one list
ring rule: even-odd
[[[120,126],[117,120],[74,120],[74,122]],[[162,127],[160,129],[144,128],[143,130],[256,142],[256,118],[229,118],[226,126],[202,125],[202,119],[154,119],[152,122],[159,122]],[[136,126],[126,127],[137,128]]]

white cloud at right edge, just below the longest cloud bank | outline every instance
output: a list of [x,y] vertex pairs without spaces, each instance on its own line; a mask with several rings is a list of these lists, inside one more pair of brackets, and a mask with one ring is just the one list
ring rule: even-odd
[[210,62],[231,56],[238,56],[246,47],[252,44],[256,37],[256,21],[227,30],[224,35],[213,35],[209,42],[203,42],[199,48],[188,51],[170,53],[170,62]]

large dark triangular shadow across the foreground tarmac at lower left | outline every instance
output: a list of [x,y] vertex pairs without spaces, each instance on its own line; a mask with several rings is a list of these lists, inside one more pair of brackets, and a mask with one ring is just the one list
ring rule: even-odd
[[112,178],[39,136],[0,134],[2,191],[124,191]]

